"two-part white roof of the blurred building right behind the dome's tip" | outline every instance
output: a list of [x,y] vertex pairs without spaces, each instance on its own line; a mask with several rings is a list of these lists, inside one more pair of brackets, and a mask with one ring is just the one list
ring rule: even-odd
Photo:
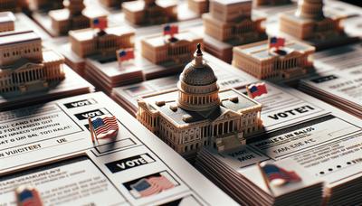
[[[162,47],[165,45],[165,38],[169,38],[169,37],[165,37],[161,34],[156,34],[156,35],[152,35],[152,36],[148,36],[146,38],[144,38],[142,40],[142,42],[146,42],[149,45],[151,45],[152,47]],[[190,42],[194,42],[195,40],[201,39],[200,36],[198,36],[195,33],[190,33],[190,32],[181,32],[181,33],[177,33],[175,35],[175,38],[178,41],[190,41]]]

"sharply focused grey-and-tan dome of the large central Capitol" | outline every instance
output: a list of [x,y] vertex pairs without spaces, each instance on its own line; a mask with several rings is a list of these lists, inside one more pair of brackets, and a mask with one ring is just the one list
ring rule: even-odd
[[204,61],[197,44],[195,59],[188,63],[178,81],[178,106],[191,111],[205,111],[220,105],[219,86],[214,70]]

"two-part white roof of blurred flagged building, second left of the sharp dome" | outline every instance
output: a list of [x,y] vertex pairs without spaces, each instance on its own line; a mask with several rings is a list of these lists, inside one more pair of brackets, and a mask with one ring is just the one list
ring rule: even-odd
[[[72,38],[76,39],[77,41],[89,41],[94,38],[94,34],[98,33],[100,29],[81,29],[81,30],[73,30],[69,32]],[[109,27],[104,30],[107,34],[113,34],[117,36],[121,36],[124,34],[135,33],[135,30],[130,28],[129,26],[117,26],[117,27]]]

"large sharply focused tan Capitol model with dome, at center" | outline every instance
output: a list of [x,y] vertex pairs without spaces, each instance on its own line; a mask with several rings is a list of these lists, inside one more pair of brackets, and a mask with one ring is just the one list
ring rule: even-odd
[[185,157],[205,145],[224,151],[262,128],[262,105],[235,89],[219,90],[200,46],[177,88],[138,98],[137,118]]

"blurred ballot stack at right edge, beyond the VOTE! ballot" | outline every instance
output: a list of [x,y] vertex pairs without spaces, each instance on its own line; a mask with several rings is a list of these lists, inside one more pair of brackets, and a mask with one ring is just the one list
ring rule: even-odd
[[300,89],[316,98],[362,117],[362,67],[332,70],[307,80],[300,80]]

